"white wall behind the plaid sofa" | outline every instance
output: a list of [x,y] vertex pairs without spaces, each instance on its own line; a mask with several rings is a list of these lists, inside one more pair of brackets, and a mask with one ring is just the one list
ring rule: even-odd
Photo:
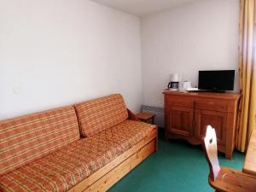
[[0,28],[0,119],[113,92],[139,109],[136,16],[88,0],[1,0]]

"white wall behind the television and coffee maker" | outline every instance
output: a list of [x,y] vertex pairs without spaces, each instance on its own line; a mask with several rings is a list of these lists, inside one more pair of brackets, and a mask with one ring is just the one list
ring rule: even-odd
[[197,85],[199,70],[237,70],[238,20],[239,0],[198,0],[144,17],[143,103],[163,106],[170,73]]

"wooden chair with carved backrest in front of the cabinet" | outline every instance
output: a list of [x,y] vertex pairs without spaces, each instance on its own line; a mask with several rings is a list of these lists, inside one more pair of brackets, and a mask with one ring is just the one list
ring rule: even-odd
[[216,132],[211,125],[203,146],[210,167],[208,182],[217,192],[256,192],[256,177],[218,165]]

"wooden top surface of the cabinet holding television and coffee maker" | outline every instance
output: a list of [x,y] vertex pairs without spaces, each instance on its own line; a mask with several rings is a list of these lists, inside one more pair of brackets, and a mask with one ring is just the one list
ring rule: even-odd
[[163,94],[172,96],[195,96],[195,97],[210,97],[210,98],[221,98],[228,100],[238,100],[240,98],[239,93],[212,93],[212,92],[181,92],[181,91],[170,91],[164,90]]

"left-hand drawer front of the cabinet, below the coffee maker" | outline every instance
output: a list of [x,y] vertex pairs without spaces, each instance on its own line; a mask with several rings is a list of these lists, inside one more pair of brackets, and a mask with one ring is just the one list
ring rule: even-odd
[[166,96],[166,102],[174,107],[193,108],[193,101],[187,96]]

